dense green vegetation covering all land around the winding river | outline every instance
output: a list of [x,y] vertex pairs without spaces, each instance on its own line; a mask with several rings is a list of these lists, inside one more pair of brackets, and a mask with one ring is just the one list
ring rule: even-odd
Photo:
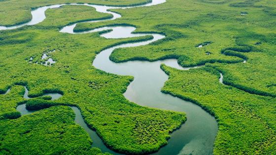
[[[126,6],[149,0],[0,0],[0,25],[25,23],[32,19],[31,9],[70,2]],[[110,59],[173,58],[184,67],[205,64],[188,71],[162,65],[169,75],[162,92],[190,100],[216,118],[215,155],[276,154],[276,0],[167,0],[112,11],[122,17],[80,23],[74,31],[133,25],[136,32],[165,34],[150,45],[117,49]],[[93,139],[74,124],[73,111],[63,105],[77,106],[85,122],[113,150],[143,154],[166,145],[186,115],[128,101],[123,93],[133,77],[92,65],[106,47],[151,37],[105,39],[99,32],[59,32],[71,23],[112,17],[88,6],[62,6],[45,14],[47,18],[37,25],[0,31],[0,155],[102,154],[91,148]],[[56,63],[39,64],[50,51],[55,51],[48,55]],[[219,73],[226,85],[219,83]],[[23,86],[32,97],[46,92],[63,97],[27,101]],[[9,88],[11,92],[3,94]],[[30,109],[47,108],[20,117],[16,106],[22,103]]]

